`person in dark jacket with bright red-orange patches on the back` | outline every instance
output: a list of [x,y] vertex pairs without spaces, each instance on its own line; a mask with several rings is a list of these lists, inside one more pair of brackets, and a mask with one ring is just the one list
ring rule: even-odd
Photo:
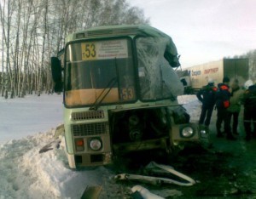
[[217,121],[216,129],[217,136],[223,137],[221,132],[221,124],[224,122],[224,133],[227,134],[227,139],[236,140],[231,134],[230,123],[228,121],[228,107],[230,106],[230,78],[224,77],[222,83],[218,83],[218,90],[216,92],[216,108],[217,108]]

